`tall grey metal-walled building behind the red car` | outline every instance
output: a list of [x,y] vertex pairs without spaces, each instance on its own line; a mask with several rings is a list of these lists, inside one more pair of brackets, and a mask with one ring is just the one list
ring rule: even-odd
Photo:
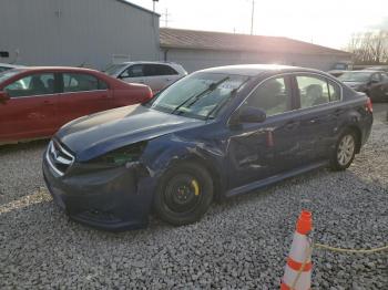
[[0,51],[27,65],[159,59],[159,17],[116,0],[1,0]]

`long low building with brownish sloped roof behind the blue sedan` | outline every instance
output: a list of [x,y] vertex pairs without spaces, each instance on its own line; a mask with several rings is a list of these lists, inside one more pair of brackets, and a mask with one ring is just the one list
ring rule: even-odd
[[161,28],[161,59],[181,63],[188,72],[239,64],[277,63],[327,71],[337,62],[350,61],[351,54],[303,41]]

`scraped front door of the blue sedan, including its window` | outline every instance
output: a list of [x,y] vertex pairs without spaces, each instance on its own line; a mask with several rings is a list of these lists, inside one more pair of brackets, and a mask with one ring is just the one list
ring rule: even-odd
[[290,79],[263,82],[242,104],[264,110],[263,123],[229,127],[229,188],[236,188],[287,170],[298,158],[298,123],[293,114]]

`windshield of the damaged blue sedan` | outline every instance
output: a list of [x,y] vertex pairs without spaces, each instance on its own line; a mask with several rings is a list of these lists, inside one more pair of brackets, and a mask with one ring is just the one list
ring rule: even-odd
[[248,79],[243,75],[195,73],[169,86],[146,105],[170,114],[214,118]]

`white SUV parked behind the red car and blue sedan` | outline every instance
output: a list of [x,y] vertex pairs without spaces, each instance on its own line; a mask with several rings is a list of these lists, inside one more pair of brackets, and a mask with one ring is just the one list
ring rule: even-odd
[[170,62],[124,62],[112,64],[105,73],[127,83],[142,83],[156,93],[187,72],[182,65]]

